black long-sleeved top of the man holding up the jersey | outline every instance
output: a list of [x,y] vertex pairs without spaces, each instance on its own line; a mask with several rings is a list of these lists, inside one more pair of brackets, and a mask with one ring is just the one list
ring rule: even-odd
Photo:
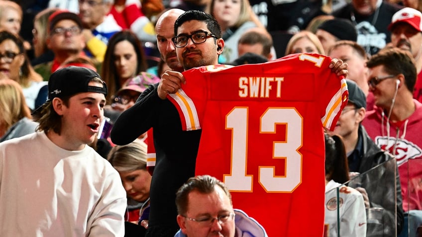
[[157,87],[158,83],[149,86],[132,107],[121,113],[111,130],[111,141],[125,145],[153,128],[156,162],[147,236],[174,237],[179,229],[176,191],[195,176],[201,130],[183,131],[176,107],[158,97]]

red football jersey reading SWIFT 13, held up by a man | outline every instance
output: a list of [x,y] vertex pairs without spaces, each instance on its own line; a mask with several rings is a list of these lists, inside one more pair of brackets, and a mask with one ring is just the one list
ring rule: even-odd
[[234,208],[268,236],[323,234],[322,127],[334,128],[348,95],[330,62],[295,54],[265,64],[196,68],[168,96],[184,130],[202,129],[195,173],[222,180]]

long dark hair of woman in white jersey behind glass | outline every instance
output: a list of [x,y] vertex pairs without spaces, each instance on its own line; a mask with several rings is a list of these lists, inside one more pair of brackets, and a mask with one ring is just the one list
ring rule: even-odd
[[337,183],[349,181],[346,149],[341,137],[325,134],[325,176]]

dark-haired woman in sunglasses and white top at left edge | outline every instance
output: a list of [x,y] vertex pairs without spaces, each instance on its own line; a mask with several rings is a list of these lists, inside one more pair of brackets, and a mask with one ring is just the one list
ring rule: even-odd
[[22,40],[5,30],[0,31],[0,72],[22,86],[26,104],[35,109],[38,91],[47,82],[30,65]]

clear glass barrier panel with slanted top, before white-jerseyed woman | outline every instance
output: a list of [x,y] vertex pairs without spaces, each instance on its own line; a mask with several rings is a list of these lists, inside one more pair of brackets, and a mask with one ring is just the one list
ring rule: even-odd
[[[355,188],[363,194],[366,206],[366,236],[367,237],[396,237],[397,236],[397,190],[396,186],[396,159],[390,159],[381,163],[364,173],[355,173],[351,179],[344,183],[344,185]],[[350,227],[350,225],[359,226],[364,225],[351,220],[347,215],[343,215],[344,208],[342,205],[348,205],[348,202],[342,200],[341,187],[334,188],[325,193],[326,214],[330,208],[336,211],[335,223],[331,223],[328,227],[330,229],[330,237],[342,236],[341,233]],[[327,197],[333,196],[336,200],[331,202]],[[366,197],[365,197],[366,196]],[[344,197],[344,196],[343,196]],[[399,202],[400,203],[400,202]],[[332,205],[329,207],[328,205]],[[353,214],[355,215],[355,214]],[[327,217],[327,215],[326,215]],[[332,235],[332,228],[336,228]],[[343,230],[342,230],[343,229]]]

